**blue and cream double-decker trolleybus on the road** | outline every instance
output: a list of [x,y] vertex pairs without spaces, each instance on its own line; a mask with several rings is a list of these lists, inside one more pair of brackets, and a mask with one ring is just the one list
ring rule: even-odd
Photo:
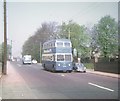
[[68,39],[55,39],[43,44],[42,66],[50,71],[72,71],[72,44]]

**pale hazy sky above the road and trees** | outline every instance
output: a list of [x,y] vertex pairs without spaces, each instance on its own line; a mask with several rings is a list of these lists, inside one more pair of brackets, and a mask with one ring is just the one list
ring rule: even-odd
[[[22,2],[21,2],[22,1]],[[38,2],[39,1],[39,2]],[[12,40],[13,56],[20,56],[24,42],[44,22],[68,22],[93,26],[101,17],[110,15],[118,20],[118,0],[78,2],[79,0],[9,0],[7,2],[7,39]],[[60,2],[61,1],[61,2]],[[97,1],[97,0],[96,0]],[[106,1],[106,2],[105,2]],[[114,1],[114,2],[113,2]],[[3,41],[3,2],[0,2],[0,43]]]

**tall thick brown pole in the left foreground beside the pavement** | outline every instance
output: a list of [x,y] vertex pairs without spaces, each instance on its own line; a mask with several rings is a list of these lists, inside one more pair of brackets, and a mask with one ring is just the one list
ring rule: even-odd
[[7,21],[6,21],[6,0],[4,0],[4,57],[2,73],[7,74]]

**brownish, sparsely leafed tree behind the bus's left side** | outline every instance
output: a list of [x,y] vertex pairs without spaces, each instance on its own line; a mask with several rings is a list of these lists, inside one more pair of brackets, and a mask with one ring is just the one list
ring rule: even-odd
[[24,43],[22,55],[30,54],[33,59],[40,61],[40,43],[43,44],[47,40],[56,39],[59,27],[56,22],[42,23],[41,27],[35,34]]

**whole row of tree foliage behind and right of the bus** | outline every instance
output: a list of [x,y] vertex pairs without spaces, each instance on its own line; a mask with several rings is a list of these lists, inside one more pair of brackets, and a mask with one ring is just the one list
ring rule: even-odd
[[24,43],[22,55],[31,54],[32,58],[39,61],[40,43],[58,38],[70,38],[79,57],[91,57],[91,53],[98,48],[104,57],[114,55],[118,53],[117,26],[115,19],[110,16],[101,18],[92,29],[72,20],[63,22],[62,25],[56,22],[42,23],[35,34]]

